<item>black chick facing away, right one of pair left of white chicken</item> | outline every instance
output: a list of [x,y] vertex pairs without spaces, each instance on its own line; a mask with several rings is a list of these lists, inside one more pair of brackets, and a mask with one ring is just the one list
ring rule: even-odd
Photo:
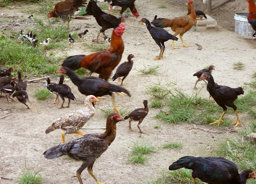
[[60,98],[62,99],[62,105],[60,108],[64,108],[63,104],[65,102],[65,98],[68,98],[68,106],[65,106],[65,108],[69,107],[70,100],[75,100],[74,94],[71,92],[71,88],[67,84],[63,84],[64,82],[64,75],[60,76],[59,84],[56,86],[56,91],[58,92]]

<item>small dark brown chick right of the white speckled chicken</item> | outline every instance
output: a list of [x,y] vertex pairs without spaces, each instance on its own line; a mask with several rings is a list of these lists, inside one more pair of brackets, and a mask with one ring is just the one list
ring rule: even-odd
[[148,115],[148,100],[144,100],[143,101],[144,104],[144,108],[138,108],[133,110],[132,112],[130,112],[128,115],[126,115],[126,117],[124,117],[124,119],[129,119],[129,129],[131,131],[134,131],[131,127],[131,121],[139,121],[137,127],[140,130],[140,133],[145,133],[145,131],[141,131],[140,129],[140,123],[142,123],[143,119]]

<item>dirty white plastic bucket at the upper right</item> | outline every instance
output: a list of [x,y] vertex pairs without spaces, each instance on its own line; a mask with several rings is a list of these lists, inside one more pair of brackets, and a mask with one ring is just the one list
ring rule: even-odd
[[238,35],[241,35],[244,38],[252,39],[252,35],[255,31],[252,29],[252,25],[248,23],[247,20],[248,13],[236,13],[234,16],[235,24],[235,32]]

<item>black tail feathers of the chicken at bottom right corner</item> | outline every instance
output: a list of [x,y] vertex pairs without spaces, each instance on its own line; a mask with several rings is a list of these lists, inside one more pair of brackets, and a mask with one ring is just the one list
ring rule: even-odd
[[178,161],[173,162],[169,166],[169,170],[177,170],[183,167],[187,169],[193,169],[197,159],[198,159],[197,157],[191,157],[191,156],[182,157],[178,159]]

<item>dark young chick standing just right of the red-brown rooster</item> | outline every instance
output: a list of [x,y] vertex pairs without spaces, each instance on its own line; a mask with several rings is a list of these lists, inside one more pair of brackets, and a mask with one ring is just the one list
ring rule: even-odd
[[119,67],[116,69],[116,73],[114,74],[114,76],[112,77],[112,80],[116,80],[118,78],[118,81],[120,82],[120,78],[122,77],[122,82],[121,82],[121,86],[122,85],[126,85],[123,84],[124,79],[128,76],[129,72],[132,70],[132,65],[133,65],[133,61],[132,58],[134,58],[135,56],[133,54],[129,54],[128,55],[128,61],[122,63],[121,65],[119,65]]

